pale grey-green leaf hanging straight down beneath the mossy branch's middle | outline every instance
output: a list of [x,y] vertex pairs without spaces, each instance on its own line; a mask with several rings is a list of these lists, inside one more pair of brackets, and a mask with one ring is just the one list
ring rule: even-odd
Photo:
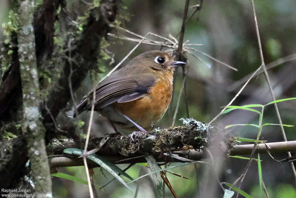
[[[151,172],[155,172],[160,170],[158,167],[158,164],[156,162],[156,160],[154,159],[154,157],[152,155],[146,156],[145,157],[147,163],[149,164],[149,168],[151,170]],[[163,183],[162,183],[162,178],[160,175],[160,172],[155,172],[154,174],[152,174],[154,183],[156,185],[156,190],[157,190],[157,196],[159,198],[163,197]]]

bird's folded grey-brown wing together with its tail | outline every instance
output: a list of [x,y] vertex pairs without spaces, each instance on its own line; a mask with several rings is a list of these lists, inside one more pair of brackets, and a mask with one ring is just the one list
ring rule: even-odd
[[[96,86],[96,109],[105,107],[113,102],[130,102],[147,94],[147,91],[155,83],[152,74],[110,75]],[[91,108],[93,90],[77,106],[78,113]]]

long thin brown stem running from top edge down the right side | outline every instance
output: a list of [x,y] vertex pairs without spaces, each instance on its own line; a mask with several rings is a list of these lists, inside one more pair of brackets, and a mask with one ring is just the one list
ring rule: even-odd
[[[254,1],[252,0],[252,9],[253,9],[253,13],[254,13],[254,20],[255,20],[255,26],[256,26],[256,33],[257,33],[257,38],[258,38],[258,45],[259,45],[259,51],[260,51],[260,58],[261,58],[261,66],[263,68],[263,71],[264,71],[264,75],[266,77],[266,81],[267,81],[267,84],[268,84],[268,88],[269,88],[269,91],[270,91],[270,94],[271,94],[271,97],[272,99],[275,101],[276,98],[274,96],[274,91],[272,90],[272,87],[271,87],[271,83],[270,83],[270,79],[269,79],[269,76],[268,76],[268,73],[267,73],[267,70],[266,70],[266,66],[265,66],[265,63],[264,63],[264,58],[263,58],[263,52],[262,52],[262,46],[261,46],[261,41],[260,41],[260,35],[259,35],[259,28],[258,28],[258,23],[257,23],[257,18],[256,18],[256,12],[255,12],[255,5],[254,5]],[[282,136],[284,138],[284,141],[287,142],[287,137],[286,137],[286,134],[285,134],[285,130],[284,130],[284,127],[283,127],[283,123],[281,121],[281,115],[279,114],[279,109],[277,107],[277,104],[274,103],[274,108],[276,110],[276,116],[279,120],[279,124],[280,124],[280,127],[281,127],[281,132],[282,132]],[[291,157],[291,153],[288,152],[288,156]],[[294,174],[294,177],[295,177],[295,182],[296,182],[296,170],[295,170],[295,167],[294,167],[294,164],[293,162],[291,162],[291,168],[292,168],[292,172]]]

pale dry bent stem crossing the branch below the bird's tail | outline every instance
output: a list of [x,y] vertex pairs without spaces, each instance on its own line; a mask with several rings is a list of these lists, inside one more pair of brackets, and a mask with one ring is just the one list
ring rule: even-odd
[[87,162],[86,162],[86,156],[85,153],[87,151],[87,145],[89,144],[89,135],[91,132],[91,123],[94,117],[94,104],[96,103],[96,89],[93,89],[93,100],[92,100],[92,104],[91,104],[91,115],[89,118],[89,128],[87,129],[87,134],[86,134],[86,140],[85,140],[85,145],[84,145],[84,151],[83,151],[83,163],[84,163],[84,167],[85,167],[85,171],[86,171],[86,176],[87,176],[87,181],[88,181],[88,185],[89,185],[89,194],[91,198],[94,198],[94,194],[93,194],[93,190],[91,188],[91,179],[89,176],[89,168],[87,166]]

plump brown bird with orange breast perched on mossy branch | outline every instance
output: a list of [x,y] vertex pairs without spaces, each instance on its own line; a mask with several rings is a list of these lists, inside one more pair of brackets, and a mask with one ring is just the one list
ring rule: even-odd
[[[185,64],[164,51],[136,56],[96,85],[94,110],[121,129],[146,131],[163,118],[172,99],[175,67]],[[92,99],[93,90],[78,104],[78,114],[91,109]]]

